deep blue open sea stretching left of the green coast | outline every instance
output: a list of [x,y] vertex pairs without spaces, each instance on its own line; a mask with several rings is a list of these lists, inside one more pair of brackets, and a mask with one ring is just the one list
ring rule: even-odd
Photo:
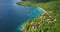
[[[16,28],[35,14],[32,9],[18,6],[20,0],[0,0],[0,32],[17,32]],[[31,11],[29,11],[31,10]],[[38,13],[39,14],[39,13]],[[35,15],[38,15],[35,14]],[[35,16],[36,17],[36,16]]]

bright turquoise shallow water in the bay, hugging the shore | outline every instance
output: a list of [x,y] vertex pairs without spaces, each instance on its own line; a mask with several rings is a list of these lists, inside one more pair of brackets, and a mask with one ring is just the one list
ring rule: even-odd
[[[29,19],[34,19],[40,15],[42,15],[44,12],[40,9],[40,8],[37,8],[37,7],[26,7],[26,11],[28,12],[27,13],[27,16],[29,16],[30,18]],[[26,18],[25,18],[26,19]],[[25,22],[23,22],[22,24],[19,24],[17,26],[17,31],[18,32],[21,32],[22,30],[22,26],[29,20],[27,19]]]

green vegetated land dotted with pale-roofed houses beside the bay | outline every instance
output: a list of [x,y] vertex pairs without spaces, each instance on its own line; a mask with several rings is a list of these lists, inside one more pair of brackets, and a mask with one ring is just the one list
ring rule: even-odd
[[28,20],[22,27],[24,32],[60,32],[60,0],[23,0],[17,4],[25,7],[40,7],[49,12]]

